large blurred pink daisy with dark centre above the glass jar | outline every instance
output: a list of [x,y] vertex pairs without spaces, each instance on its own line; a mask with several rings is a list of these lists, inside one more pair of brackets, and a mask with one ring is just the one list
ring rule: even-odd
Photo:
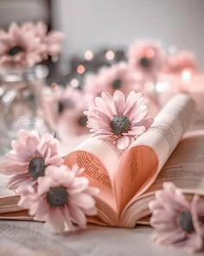
[[41,62],[45,46],[35,36],[35,30],[22,30],[12,23],[8,33],[0,30],[0,67],[28,69]]

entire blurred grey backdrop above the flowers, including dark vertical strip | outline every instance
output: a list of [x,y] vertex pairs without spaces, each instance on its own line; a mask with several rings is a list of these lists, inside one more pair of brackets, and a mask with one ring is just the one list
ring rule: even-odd
[[125,49],[138,38],[160,40],[164,49],[192,50],[202,69],[203,11],[203,0],[0,0],[0,26],[41,20],[63,31],[61,75],[87,49]]

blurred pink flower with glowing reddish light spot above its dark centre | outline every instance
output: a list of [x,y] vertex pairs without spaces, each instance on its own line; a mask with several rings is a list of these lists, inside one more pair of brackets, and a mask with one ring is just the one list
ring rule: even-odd
[[141,76],[143,82],[156,82],[166,62],[166,56],[159,43],[136,41],[129,49],[129,65]]

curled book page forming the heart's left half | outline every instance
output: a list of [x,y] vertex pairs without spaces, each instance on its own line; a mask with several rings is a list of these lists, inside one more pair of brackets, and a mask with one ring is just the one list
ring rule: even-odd
[[[116,148],[109,140],[88,138],[68,154],[65,160],[69,167],[77,163],[80,167],[85,168],[83,176],[89,179],[91,186],[100,189],[99,200],[112,207],[116,213],[118,210],[112,184],[118,172],[122,154],[123,151]],[[111,209],[110,212],[112,212]]]

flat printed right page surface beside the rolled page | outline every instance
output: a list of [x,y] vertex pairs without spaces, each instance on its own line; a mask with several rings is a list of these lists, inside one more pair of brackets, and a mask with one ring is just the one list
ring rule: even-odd
[[204,195],[204,131],[182,139],[146,193],[162,189],[164,181],[174,182],[186,193]]

